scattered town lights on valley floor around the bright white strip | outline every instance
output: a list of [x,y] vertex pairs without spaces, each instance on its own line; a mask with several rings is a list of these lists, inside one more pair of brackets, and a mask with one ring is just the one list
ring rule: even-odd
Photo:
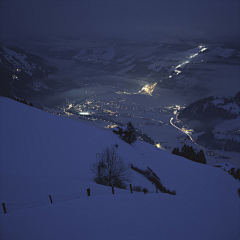
[[[161,125],[165,122],[141,116],[144,113],[176,114],[178,105],[167,107],[143,107],[140,104],[128,101],[126,98],[113,98],[110,102],[105,100],[88,99],[84,103],[67,103],[60,108],[65,114],[79,115],[79,118],[90,121],[116,122],[117,117],[138,118],[143,121],[138,126]],[[147,121],[147,122],[146,122]],[[168,124],[168,123],[167,123]]]

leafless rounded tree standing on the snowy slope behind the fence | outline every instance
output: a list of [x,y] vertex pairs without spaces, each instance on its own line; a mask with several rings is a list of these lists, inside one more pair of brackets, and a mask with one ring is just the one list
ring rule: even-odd
[[106,147],[102,153],[97,154],[91,170],[94,173],[94,182],[106,186],[126,188],[126,182],[130,182],[131,179],[130,167],[118,155],[114,146]]

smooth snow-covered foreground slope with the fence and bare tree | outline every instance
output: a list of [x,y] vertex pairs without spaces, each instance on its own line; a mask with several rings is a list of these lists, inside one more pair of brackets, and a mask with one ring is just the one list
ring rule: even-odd
[[[110,50],[109,50],[110,55]],[[25,204],[49,194],[75,200],[0,213],[1,239],[240,239],[240,208],[232,176],[159,150],[132,146],[111,131],[0,98],[1,203]],[[92,182],[91,164],[118,144],[126,163],[150,167],[176,196],[132,173],[148,194]]]

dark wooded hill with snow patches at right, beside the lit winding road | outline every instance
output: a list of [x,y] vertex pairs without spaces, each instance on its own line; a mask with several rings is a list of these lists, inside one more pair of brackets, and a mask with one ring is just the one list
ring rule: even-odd
[[205,133],[198,136],[197,142],[205,147],[240,152],[240,92],[235,97],[209,97],[192,103],[179,119],[196,131],[202,123]]

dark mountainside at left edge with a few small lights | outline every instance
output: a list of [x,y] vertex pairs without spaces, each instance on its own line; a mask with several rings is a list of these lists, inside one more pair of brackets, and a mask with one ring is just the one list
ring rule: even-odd
[[57,71],[39,56],[17,47],[0,46],[2,96],[32,99],[69,88],[63,81],[50,77]]

